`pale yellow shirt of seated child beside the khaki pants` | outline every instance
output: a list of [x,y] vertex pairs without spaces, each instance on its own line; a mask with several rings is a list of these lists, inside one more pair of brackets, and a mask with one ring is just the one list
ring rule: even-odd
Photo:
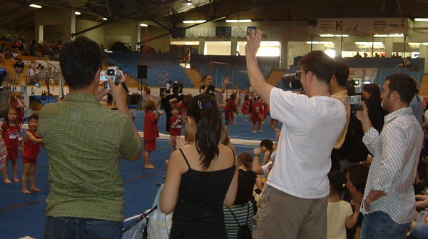
[[327,239],[346,239],[346,218],[352,215],[351,204],[340,200],[328,202],[327,206]]

